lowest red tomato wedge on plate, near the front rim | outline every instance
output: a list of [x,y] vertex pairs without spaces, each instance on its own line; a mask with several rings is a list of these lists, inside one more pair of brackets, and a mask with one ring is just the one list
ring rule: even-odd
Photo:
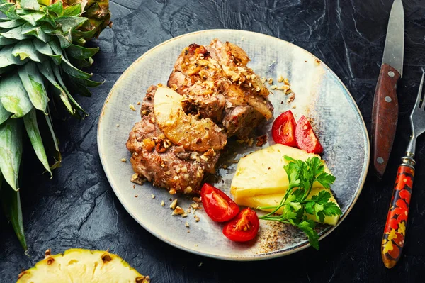
[[242,209],[239,214],[223,228],[223,234],[229,240],[246,242],[255,238],[259,232],[260,221],[256,212],[249,207]]

